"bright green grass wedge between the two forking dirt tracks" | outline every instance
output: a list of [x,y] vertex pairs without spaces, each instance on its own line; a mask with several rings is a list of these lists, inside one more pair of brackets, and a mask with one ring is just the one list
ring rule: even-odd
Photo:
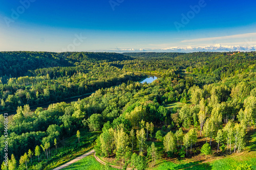
[[[68,167],[63,168],[63,170],[101,170],[104,169],[104,165],[100,164],[93,155],[87,156]],[[110,168],[111,170],[114,170],[116,168]]]

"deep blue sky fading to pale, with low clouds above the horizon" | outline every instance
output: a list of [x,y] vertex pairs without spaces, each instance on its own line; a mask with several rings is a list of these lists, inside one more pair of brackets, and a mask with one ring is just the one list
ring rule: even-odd
[[255,16],[251,0],[1,1],[0,51],[255,51]]

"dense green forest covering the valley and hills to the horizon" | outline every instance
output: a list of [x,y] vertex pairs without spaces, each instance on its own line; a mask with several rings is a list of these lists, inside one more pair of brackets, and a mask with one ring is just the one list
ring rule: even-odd
[[[0,52],[1,155],[6,134],[8,169],[53,169],[91,149],[105,169],[179,169],[247,152],[256,52],[232,53]],[[140,83],[147,75],[158,79]],[[253,151],[232,168],[256,169]]]

